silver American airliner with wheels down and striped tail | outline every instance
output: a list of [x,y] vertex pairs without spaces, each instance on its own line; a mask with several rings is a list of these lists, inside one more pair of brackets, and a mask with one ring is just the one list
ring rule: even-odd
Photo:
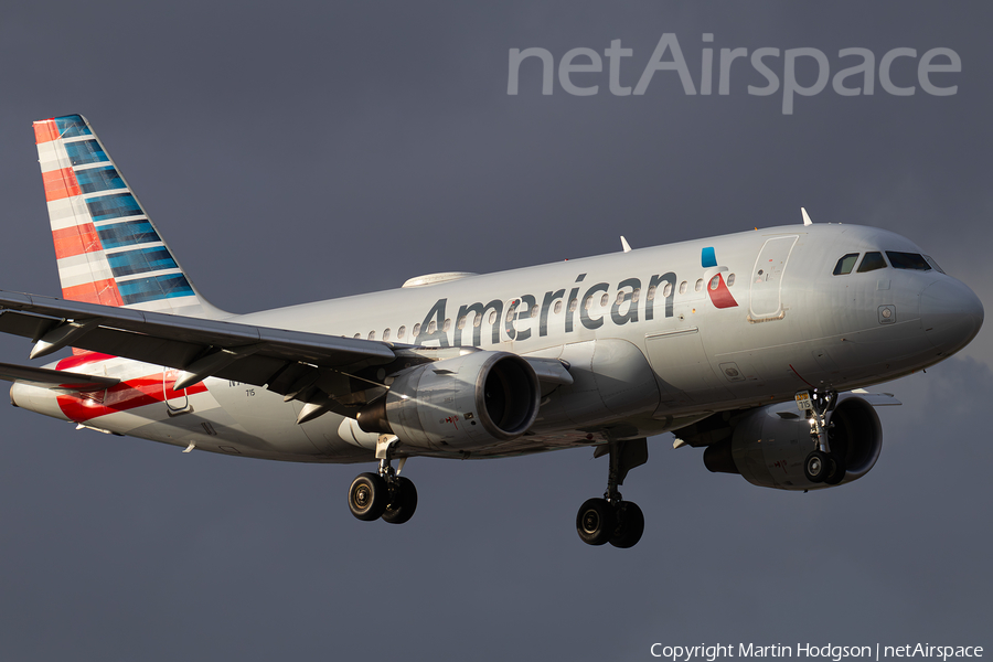
[[[983,306],[916,244],[802,224],[234,314],[200,293],[90,124],[34,122],[62,297],[0,291],[0,331],[44,367],[0,364],[11,403],[93,429],[245,458],[376,462],[351,513],[399,524],[412,457],[592,447],[607,490],[576,516],[590,545],[639,542],[619,487],[648,438],[711,471],[808,491],[882,450],[867,386],[933,365]],[[396,467],[394,467],[394,460]]]

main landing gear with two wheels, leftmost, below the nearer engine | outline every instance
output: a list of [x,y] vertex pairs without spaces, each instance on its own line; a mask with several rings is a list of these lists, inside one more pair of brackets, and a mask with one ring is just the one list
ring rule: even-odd
[[391,461],[397,438],[383,435],[376,444],[376,458],[380,459],[377,473],[360,473],[349,488],[349,510],[359,520],[371,522],[383,519],[391,524],[403,524],[414,516],[417,510],[417,490],[414,481],[399,476],[406,458],[402,458],[394,471]]

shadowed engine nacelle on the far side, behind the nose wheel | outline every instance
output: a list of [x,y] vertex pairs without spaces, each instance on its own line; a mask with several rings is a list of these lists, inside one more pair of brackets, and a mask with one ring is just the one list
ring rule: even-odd
[[[748,482],[764,488],[830,487],[812,483],[803,473],[803,460],[814,447],[810,424],[792,402],[761,407],[729,426],[729,438],[704,451],[704,465],[711,471],[740,473]],[[828,415],[828,427],[832,452],[845,458],[847,471],[842,482],[868,473],[883,449],[883,426],[873,405],[858,394],[840,394]],[[706,434],[715,433],[719,434],[714,429]]]

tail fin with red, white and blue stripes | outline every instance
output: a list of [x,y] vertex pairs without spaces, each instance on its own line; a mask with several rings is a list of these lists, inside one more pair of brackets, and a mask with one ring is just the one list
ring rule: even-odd
[[62,296],[220,318],[192,286],[82,115],[34,122]]

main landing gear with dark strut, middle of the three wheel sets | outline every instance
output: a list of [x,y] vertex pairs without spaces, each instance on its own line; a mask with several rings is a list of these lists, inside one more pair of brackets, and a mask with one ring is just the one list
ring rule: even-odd
[[648,461],[645,439],[611,441],[597,448],[594,457],[610,455],[607,491],[602,499],[589,499],[576,515],[576,531],[587,545],[610,543],[615,547],[633,547],[644,533],[644,515],[633,501],[624,501],[617,487],[623,484],[630,469]]

